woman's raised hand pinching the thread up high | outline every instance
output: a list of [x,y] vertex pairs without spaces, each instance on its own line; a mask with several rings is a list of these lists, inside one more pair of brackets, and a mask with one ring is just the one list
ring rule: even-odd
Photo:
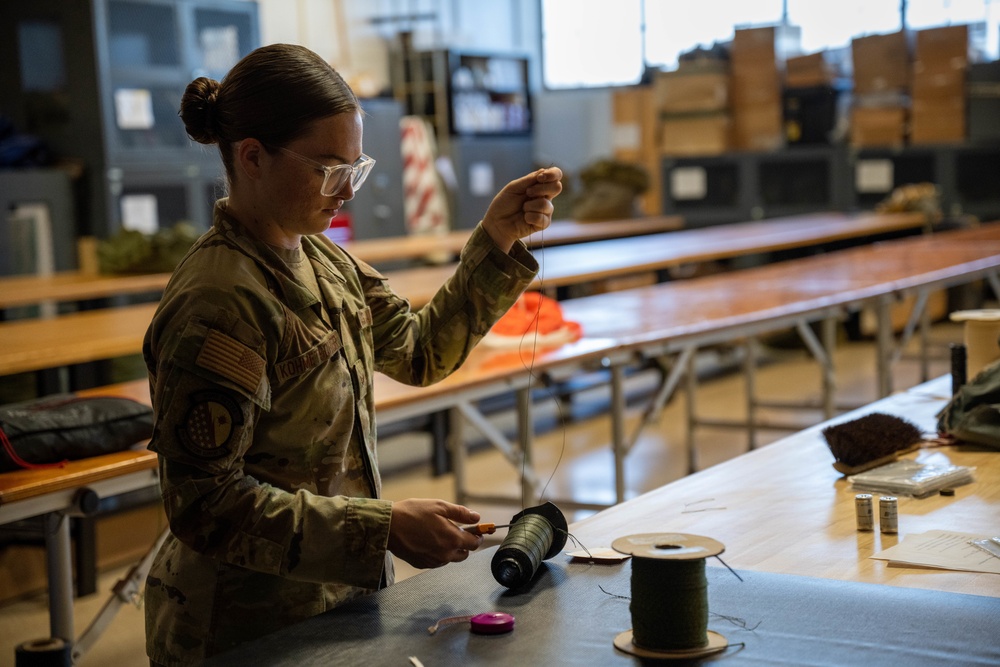
[[552,198],[562,192],[559,167],[537,169],[511,181],[490,203],[483,228],[504,252],[514,242],[543,230],[552,222]]

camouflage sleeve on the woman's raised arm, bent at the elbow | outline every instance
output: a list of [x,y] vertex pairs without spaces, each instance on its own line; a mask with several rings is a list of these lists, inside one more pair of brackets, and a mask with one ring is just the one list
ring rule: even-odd
[[376,370],[415,385],[448,376],[537,272],[538,262],[523,243],[504,253],[480,224],[462,250],[455,273],[419,310],[411,310],[380,275],[363,275],[372,309]]

